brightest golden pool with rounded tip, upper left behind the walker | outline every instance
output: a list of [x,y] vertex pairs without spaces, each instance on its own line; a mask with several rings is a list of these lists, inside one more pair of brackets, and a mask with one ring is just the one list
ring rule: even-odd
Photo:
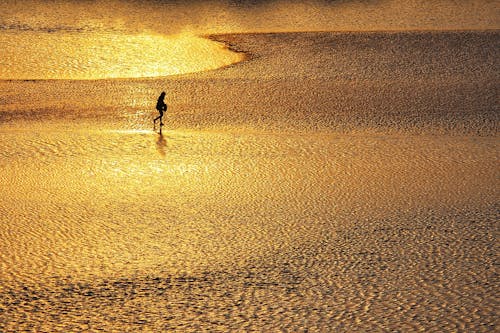
[[241,54],[223,44],[189,33],[26,31],[0,34],[0,45],[5,46],[0,79],[158,77],[216,69],[242,60]]

